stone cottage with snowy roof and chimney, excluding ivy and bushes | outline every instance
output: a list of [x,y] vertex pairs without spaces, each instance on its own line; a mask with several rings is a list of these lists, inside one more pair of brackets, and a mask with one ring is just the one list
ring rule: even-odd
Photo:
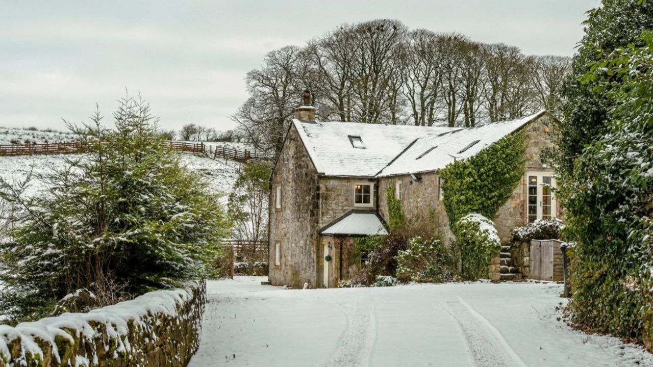
[[526,173],[494,218],[496,228],[508,242],[516,227],[556,217],[553,172],[540,157],[552,146],[552,121],[541,111],[471,129],[379,125],[315,121],[313,106],[296,108],[270,178],[270,282],[320,288],[347,279],[355,238],[388,231],[389,189],[408,223],[428,224],[447,241],[438,170],[521,129]]

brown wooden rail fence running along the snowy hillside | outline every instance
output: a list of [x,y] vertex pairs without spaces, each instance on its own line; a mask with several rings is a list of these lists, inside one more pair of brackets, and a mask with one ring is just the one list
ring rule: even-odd
[[[250,160],[269,160],[270,156],[249,150],[236,150],[226,146],[205,146],[203,142],[175,142],[167,140],[167,146],[178,152],[205,153],[210,157],[232,159],[246,162]],[[35,155],[35,154],[74,154],[88,152],[91,144],[85,142],[64,142],[44,144],[0,144],[0,155]],[[207,150],[208,148],[208,150]]]

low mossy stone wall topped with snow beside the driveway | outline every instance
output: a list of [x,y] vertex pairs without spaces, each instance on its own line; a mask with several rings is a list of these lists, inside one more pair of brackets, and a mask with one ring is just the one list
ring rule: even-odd
[[0,325],[0,367],[183,367],[199,346],[206,282],[88,313]]

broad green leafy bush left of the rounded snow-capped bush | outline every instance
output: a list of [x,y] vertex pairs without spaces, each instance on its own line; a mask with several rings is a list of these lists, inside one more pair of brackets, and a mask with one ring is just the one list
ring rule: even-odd
[[456,257],[439,240],[415,237],[406,251],[399,251],[397,279],[404,282],[441,283],[456,275]]

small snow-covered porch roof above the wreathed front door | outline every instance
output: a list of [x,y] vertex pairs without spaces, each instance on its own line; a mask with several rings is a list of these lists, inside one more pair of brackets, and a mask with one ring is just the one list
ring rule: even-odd
[[326,225],[323,236],[372,236],[388,234],[375,210],[352,210]]

